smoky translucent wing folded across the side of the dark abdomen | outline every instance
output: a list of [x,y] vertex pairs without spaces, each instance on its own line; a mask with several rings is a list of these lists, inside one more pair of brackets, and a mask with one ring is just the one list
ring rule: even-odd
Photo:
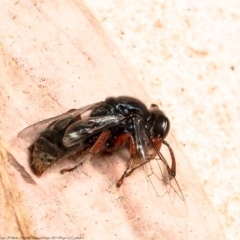
[[63,137],[65,147],[71,147],[86,138],[119,124],[124,116],[90,117],[71,124]]

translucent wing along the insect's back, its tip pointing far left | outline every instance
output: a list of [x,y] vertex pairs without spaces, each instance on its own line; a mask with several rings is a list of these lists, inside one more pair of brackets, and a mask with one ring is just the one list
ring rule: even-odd
[[[61,115],[58,115],[56,117],[52,117],[52,118],[48,118],[45,119],[43,121],[37,122],[25,129],[23,129],[21,132],[18,133],[18,137],[31,137],[31,138],[38,138],[40,133],[43,132],[44,130],[46,130],[46,128],[48,128],[51,124],[54,123],[57,124],[61,121],[60,126],[64,128],[65,126],[67,126],[67,124],[69,124],[69,121],[71,121],[71,119],[77,117],[78,115],[81,115],[83,113],[85,113],[86,111],[89,111],[95,107],[97,107],[98,105],[100,105],[102,102],[98,102],[98,103],[94,103],[94,104],[90,104],[87,105],[85,107],[79,108],[79,109],[72,109],[66,113],[63,113]],[[64,120],[64,121],[62,121]]]

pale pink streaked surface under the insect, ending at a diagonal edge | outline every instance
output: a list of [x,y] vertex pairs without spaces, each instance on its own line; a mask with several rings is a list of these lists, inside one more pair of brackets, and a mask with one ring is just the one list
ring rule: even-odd
[[[59,174],[71,164],[67,161],[41,178],[31,173],[27,143],[16,138],[22,128],[109,95],[135,96],[148,105],[150,101],[81,1],[1,4],[1,236],[224,239],[211,204],[172,136],[168,140],[176,150],[185,218],[178,216],[178,205],[165,208],[169,202],[161,199],[162,209],[152,204],[142,171],[116,189],[125,164],[119,155],[95,159],[71,174]],[[9,153],[36,184],[27,183],[9,163]]]

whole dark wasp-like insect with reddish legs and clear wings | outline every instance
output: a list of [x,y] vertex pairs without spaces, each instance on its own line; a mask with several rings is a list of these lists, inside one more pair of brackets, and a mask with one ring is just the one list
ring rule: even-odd
[[[87,112],[89,115],[84,118]],[[157,105],[152,104],[147,109],[138,99],[121,96],[109,97],[105,101],[35,123],[22,130],[18,136],[36,135],[29,149],[31,167],[39,176],[51,165],[72,154],[82,156],[80,162],[73,168],[61,170],[61,173],[76,169],[95,154],[114,152],[128,144],[130,159],[117,187],[122,185],[125,177],[143,166],[152,185],[158,181],[165,186],[163,193],[159,194],[153,185],[158,195],[173,191],[184,201],[175,179],[174,153],[164,140],[169,128],[168,118]],[[169,149],[171,166],[160,152],[162,144]],[[151,165],[153,162],[154,166]]]

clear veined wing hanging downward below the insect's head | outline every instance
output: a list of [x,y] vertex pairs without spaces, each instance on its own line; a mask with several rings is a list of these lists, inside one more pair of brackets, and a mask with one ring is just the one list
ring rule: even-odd
[[151,200],[157,207],[172,215],[186,216],[187,206],[183,193],[176,178],[172,177],[167,169],[171,162],[168,163],[153,145],[140,119],[134,120],[134,129]]

